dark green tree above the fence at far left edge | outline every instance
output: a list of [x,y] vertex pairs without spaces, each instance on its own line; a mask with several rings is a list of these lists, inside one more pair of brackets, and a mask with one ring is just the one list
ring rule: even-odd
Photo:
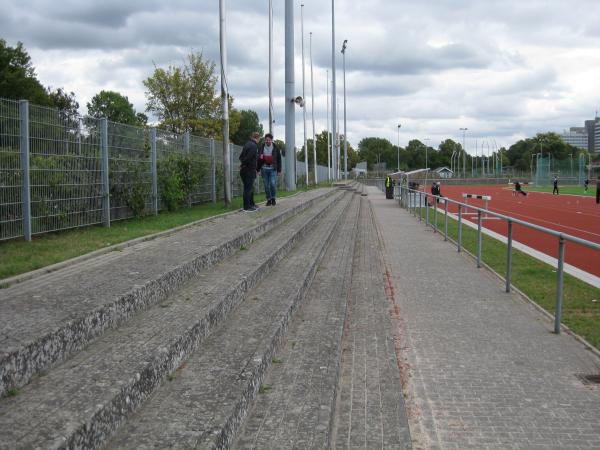
[[4,39],[0,39],[0,97],[52,106],[22,42],[17,42],[17,46],[13,48]]

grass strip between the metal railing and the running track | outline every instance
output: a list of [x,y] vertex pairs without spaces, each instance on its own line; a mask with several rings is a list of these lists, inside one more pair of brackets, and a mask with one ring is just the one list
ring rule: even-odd
[[[418,209],[423,225],[425,208]],[[433,222],[433,208],[429,219]],[[438,210],[437,227],[444,234],[444,212]],[[458,240],[458,222],[448,217],[448,237]],[[518,239],[518,236],[515,238]],[[454,245],[448,242],[448,245]],[[462,245],[473,255],[477,255],[477,231],[462,227]],[[557,244],[558,245],[558,244]],[[569,244],[566,245],[568,252]],[[503,277],[506,275],[507,245],[482,234],[482,261]],[[600,257],[600,255],[599,255]],[[476,262],[473,261],[475,266]],[[556,268],[545,264],[519,250],[512,251],[512,284],[525,293],[530,299],[551,314],[556,304]],[[562,323],[578,335],[586,339],[596,348],[600,348],[600,289],[565,273],[563,290]]]

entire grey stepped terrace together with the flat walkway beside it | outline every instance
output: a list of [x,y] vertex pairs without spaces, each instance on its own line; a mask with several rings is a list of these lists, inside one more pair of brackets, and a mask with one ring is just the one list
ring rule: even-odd
[[356,184],[79,260],[0,290],[0,449],[599,448],[600,360],[503,287]]

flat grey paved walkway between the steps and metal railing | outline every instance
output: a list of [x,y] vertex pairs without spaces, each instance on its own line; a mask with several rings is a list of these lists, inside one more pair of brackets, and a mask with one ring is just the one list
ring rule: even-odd
[[414,448],[600,448],[600,360],[368,188]]

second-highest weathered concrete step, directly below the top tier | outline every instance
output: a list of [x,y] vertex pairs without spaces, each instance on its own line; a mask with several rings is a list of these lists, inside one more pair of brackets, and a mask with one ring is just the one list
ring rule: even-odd
[[0,448],[94,448],[348,194],[335,193],[0,402]]

